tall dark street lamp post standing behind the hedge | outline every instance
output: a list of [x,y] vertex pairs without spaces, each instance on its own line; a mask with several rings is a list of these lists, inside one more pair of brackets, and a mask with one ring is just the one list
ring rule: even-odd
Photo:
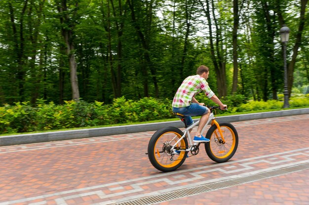
[[284,104],[283,108],[289,108],[289,92],[288,92],[288,77],[286,68],[286,44],[289,41],[290,29],[283,25],[280,29],[281,42],[283,44],[283,59],[284,59]]

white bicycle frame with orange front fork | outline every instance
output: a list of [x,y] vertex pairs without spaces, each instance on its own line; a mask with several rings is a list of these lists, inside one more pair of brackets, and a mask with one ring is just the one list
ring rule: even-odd
[[[219,131],[219,134],[220,134],[220,137],[222,139],[223,142],[225,142],[225,139],[223,137],[223,134],[222,134],[222,130],[220,129],[220,126],[219,126],[219,123],[216,121],[216,117],[214,116],[214,114],[211,112],[210,113],[210,116],[205,124],[205,126],[203,127],[202,129],[202,133],[204,133],[204,130],[206,129],[207,125],[209,124],[209,122],[212,120],[211,122],[211,125],[215,124],[218,128],[218,131]],[[184,130],[184,135],[172,146],[171,150],[172,151],[175,151],[175,146],[178,145],[178,143],[180,143],[180,141],[187,136],[187,139],[188,139],[188,143],[189,143],[189,146],[188,148],[186,149],[177,149],[179,151],[190,151],[191,150],[191,147],[193,146],[193,142],[192,142],[192,139],[191,139],[191,135],[190,135],[190,132],[189,130],[192,129],[193,127],[195,127],[197,124],[199,123],[199,120],[197,120],[196,122],[194,122],[192,125],[190,125],[189,127],[185,128]],[[173,140],[175,140],[177,137],[173,138]],[[218,134],[216,133],[216,138],[219,140],[219,136]],[[173,141],[172,140],[172,141]],[[171,141],[171,142],[172,142]],[[171,143],[170,142],[170,143]]]

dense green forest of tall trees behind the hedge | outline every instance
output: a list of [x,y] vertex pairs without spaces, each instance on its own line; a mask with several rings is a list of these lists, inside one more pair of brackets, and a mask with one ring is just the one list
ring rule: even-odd
[[308,0],[0,0],[0,105],[169,104],[201,64],[223,99],[278,100],[283,25],[289,95],[306,93],[308,19]]

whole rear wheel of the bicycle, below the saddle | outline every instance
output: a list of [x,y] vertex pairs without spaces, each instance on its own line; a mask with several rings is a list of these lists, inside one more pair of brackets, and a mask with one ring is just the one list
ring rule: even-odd
[[[185,162],[187,151],[180,151],[180,154],[176,155],[171,150],[183,135],[184,133],[176,127],[165,127],[154,133],[148,144],[148,157],[157,170],[171,172]],[[188,148],[187,139],[184,137],[174,148]]]

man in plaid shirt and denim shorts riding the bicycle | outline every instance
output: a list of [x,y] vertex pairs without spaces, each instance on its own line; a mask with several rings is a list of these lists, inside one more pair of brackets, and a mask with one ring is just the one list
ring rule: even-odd
[[210,115],[210,110],[205,107],[205,104],[199,103],[194,96],[203,90],[209,99],[220,106],[221,110],[227,108],[227,105],[224,105],[209,88],[206,82],[208,75],[209,68],[205,65],[199,66],[196,70],[196,75],[189,76],[182,82],[181,86],[177,89],[172,103],[173,112],[184,115],[188,126],[193,124],[191,116],[201,115],[197,131],[193,138],[194,143],[209,142],[209,139],[202,136],[201,130]]

